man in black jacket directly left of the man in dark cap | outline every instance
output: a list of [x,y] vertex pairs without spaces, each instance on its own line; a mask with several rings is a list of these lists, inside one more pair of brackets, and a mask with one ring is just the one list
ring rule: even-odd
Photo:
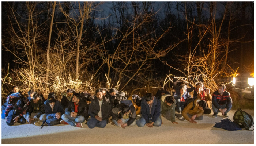
[[[46,115],[44,99],[42,99],[39,93],[35,93],[33,95],[32,100],[29,102],[29,108],[26,112],[27,114],[24,114],[23,116],[29,124],[33,123],[35,126],[41,126],[41,122],[46,119]],[[33,118],[31,118],[31,116]]]

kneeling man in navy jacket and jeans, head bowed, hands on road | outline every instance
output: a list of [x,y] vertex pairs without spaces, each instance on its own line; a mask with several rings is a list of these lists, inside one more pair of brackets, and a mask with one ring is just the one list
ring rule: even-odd
[[145,124],[148,127],[161,126],[162,120],[160,118],[161,104],[152,93],[147,93],[141,102],[142,117],[136,119],[138,127],[143,127]]

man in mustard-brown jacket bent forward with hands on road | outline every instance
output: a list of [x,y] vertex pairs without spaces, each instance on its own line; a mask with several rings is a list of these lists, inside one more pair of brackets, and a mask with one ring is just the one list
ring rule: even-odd
[[184,108],[184,110],[182,111],[182,116],[190,123],[197,123],[195,120],[203,120],[205,108],[206,101],[196,99]]

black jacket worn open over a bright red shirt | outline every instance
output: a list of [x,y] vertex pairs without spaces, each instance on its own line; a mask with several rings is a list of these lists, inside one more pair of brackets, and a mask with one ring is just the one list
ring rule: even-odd
[[[89,117],[87,103],[85,103],[83,100],[80,100],[78,104],[79,104],[77,107],[78,112],[76,116],[83,116],[87,121]],[[65,114],[69,115],[71,112],[75,112],[75,105],[72,102],[72,100],[68,102],[68,108],[66,108]]]

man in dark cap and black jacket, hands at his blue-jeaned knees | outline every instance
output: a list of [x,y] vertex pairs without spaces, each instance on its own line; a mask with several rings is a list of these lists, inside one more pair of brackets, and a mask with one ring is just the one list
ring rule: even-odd
[[48,99],[44,103],[46,123],[51,125],[60,124],[61,115],[64,114],[62,105],[55,99],[54,93],[49,93]]

